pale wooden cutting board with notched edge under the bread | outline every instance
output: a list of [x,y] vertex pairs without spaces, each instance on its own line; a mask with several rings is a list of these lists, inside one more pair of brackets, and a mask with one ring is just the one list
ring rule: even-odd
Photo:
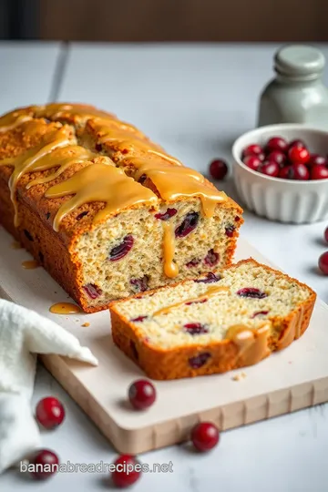
[[[12,243],[0,228],[0,295],[51,318],[96,355],[96,368],[57,355],[42,361],[120,453],[178,443],[200,420],[224,430],[328,401],[328,306],[318,300],[308,330],[289,348],[228,374],[157,381],[155,405],[136,412],[127,403],[128,385],[143,374],[114,346],[108,312],[49,313],[53,303],[69,302],[67,293],[42,268],[24,270],[29,254]],[[241,238],[236,260],[250,256],[270,264]],[[246,377],[236,380],[241,373]]]

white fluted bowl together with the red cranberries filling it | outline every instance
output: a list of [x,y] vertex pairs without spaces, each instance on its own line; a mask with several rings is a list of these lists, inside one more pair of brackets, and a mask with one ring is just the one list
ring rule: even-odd
[[302,124],[256,128],[232,147],[233,177],[246,208],[269,220],[328,219],[328,133]]

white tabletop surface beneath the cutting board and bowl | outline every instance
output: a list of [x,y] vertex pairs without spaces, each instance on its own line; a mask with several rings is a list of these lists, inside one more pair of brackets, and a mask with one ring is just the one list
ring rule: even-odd
[[[321,47],[328,56],[328,46]],[[0,111],[56,96],[96,104],[138,125],[171,154],[206,172],[210,159],[231,159],[233,139],[254,126],[261,87],[272,77],[275,48],[82,44],[67,50],[57,44],[3,43]],[[230,179],[223,188],[235,197]],[[325,225],[283,225],[245,212],[241,233],[327,302],[327,277],[316,267],[318,256],[328,249],[323,243]],[[44,445],[56,450],[62,462],[109,462],[116,456],[86,415],[40,368],[35,402],[44,395],[57,395],[67,406],[65,425],[44,434]],[[171,461],[173,473],[144,475],[133,489],[323,492],[328,490],[327,454],[328,405],[319,405],[226,432],[220,446],[206,456],[190,452],[187,446],[141,456],[149,464]],[[73,473],[37,487],[56,492],[60,487],[101,490],[108,486],[101,474]],[[34,482],[15,471],[0,477],[4,492],[35,488]]]

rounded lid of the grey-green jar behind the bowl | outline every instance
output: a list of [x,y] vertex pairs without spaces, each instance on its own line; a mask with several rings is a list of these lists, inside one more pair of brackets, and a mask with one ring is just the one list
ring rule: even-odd
[[306,45],[282,46],[274,56],[275,70],[287,77],[312,78],[323,72],[323,53]]

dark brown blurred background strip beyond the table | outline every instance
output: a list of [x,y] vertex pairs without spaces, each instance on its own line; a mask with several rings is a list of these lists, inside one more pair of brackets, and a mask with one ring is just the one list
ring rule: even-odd
[[328,0],[0,0],[1,38],[328,41]]

